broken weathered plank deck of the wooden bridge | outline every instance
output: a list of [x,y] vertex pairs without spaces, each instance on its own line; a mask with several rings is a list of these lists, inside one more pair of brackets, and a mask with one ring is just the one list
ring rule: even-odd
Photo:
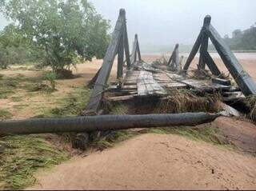
[[[165,97],[173,89],[190,89],[202,92],[222,92],[233,97],[242,97],[242,93],[234,86],[222,85],[211,78],[194,79],[190,75],[177,74],[163,69],[165,66],[152,66],[150,63],[140,62],[133,70],[126,73],[123,86],[112,82],[112,101],[123,101],[133,97],[158,96]],[[228,81],[225,81],[228,83]]]

